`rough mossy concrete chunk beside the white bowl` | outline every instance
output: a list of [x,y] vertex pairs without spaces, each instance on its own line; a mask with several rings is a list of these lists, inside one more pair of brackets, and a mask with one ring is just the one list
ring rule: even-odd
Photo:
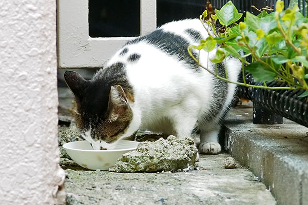
[[183,170],[195,166],[197,148],[189,138],[170,135],[155,142],[141,142],[137,149],[122,155],[115,162],[115,172],[161,172]]

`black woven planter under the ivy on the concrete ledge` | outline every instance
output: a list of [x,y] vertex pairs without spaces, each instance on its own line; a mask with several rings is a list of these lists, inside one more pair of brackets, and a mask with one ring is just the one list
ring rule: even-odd
[[[263,85],[263,83],[255,83],[251,75],[246,75],[245,80],[247,84]],[[267,83],[267,86],[285,87],[287,85],[274,80]],[[254,103],[255,124],[281,124],[282,118],[273,115],[271,113],[273,112],[308,127],[307,97],[298,97],[303,92],[304,90],[268,90],[244,86],[240,86],[239,89],[240,96],[252,100]]]

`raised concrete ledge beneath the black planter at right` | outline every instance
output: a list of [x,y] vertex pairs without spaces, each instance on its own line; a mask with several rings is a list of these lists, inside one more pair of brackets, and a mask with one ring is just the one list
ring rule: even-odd
[[225,120],[225,150],[271,190],[278,204],[308,204],[308,128],[254,125],[252,108],[237,107]]

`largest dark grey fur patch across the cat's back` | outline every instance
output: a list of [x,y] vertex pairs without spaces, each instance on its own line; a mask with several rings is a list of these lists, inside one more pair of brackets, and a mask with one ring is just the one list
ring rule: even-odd
[[[159,48],[171,56],[177,57],[180,61],[184,61],[188,64],[191,69],[196,71],[201,69],[187,52],[189,42],[179,35],[158,29],[148,35],[130,40],[126,45],[137,44],[142,41]],[[194,55],[197,56],[195,53]]]

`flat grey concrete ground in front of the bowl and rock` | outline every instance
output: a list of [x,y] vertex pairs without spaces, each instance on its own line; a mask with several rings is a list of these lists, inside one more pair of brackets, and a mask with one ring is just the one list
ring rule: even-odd
[[230,155],[200,155],[200,171],[114,173],[66,169],[66,204],[274,205],[246,168],[224,169]]

